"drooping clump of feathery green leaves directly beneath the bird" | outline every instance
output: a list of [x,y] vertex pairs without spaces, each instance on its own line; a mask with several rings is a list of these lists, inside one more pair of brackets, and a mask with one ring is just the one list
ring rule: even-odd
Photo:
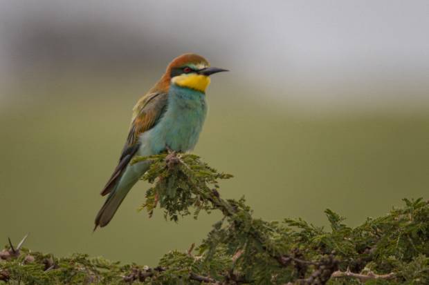
[[218,173],[197,155],[190,153],[136,157],[131,163],[146,160],[152,161],[152,166],[142,179],[151,184],[156,183],[147,190],[146,202],[140,209],[147,208],[149,216],[152,216],[159,202],[165,210],[165,217],[175,222],[179,216],[190,215],[190,207],[194,208],[195,218],[201,210],[210,212],[214,209],[208,201],[210,193],[219,188],[219,179],[232,177]]

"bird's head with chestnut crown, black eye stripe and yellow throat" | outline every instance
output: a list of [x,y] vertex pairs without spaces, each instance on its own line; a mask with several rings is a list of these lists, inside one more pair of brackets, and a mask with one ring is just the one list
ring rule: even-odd
[[171,84],[206,92],[210,84],[210,75],[222,71],[228,70],[210,67],[210,63],[204,57],[187,53],[173,59],[167,66],[165,75],[170,78]]

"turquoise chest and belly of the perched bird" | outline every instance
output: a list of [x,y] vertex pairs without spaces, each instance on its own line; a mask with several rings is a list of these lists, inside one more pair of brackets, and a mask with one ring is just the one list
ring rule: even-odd
[[167,110],[152,134],[152,149],[159,152],[167,146],[176,151],[192,150],[199,139],[206,113],[203,94],[169,98]]

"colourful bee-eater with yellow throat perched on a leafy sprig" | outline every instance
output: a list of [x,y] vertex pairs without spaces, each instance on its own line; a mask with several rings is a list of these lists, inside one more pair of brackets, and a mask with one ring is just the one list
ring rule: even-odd
[[200,55],[181,55],[138,100],[118,166],[101,192],[109,196],[95,217],[94,230],[109,224],[129,190],[149,168],[147,161],[130,165],[134,156],[194,148],[206,119],[209,76],[221,71],[228,70],[210,67]]

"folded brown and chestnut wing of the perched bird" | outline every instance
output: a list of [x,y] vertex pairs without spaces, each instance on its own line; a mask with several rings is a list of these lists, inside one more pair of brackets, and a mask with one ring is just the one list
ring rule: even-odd
[[131,158],[140,147],[138,141],[140,135],[153,128],[161,119],[167,107],[167,97],[168,95],[165,92],[149,93],[136,104],[134,118],[131,121],[131,128],[120,155],[118,166],[116,166],[109,181],[101,191],[102,196],[109,194],[115,188],[116,182],[120,179],[129,161],[131,161]]

